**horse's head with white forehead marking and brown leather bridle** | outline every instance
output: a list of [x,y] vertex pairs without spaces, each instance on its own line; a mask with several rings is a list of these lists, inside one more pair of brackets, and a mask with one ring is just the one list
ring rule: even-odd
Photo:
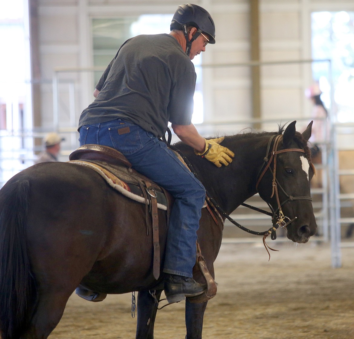
[[306,243],[317,228],[310,197],[314,168],[307,146],[312,122],[302,134],[296,132],[295,124],[292,122],[284,134],[280,132],[269,141],[257,190],[273,210],[274,223],[280,227],[288,223],[287,237]]

